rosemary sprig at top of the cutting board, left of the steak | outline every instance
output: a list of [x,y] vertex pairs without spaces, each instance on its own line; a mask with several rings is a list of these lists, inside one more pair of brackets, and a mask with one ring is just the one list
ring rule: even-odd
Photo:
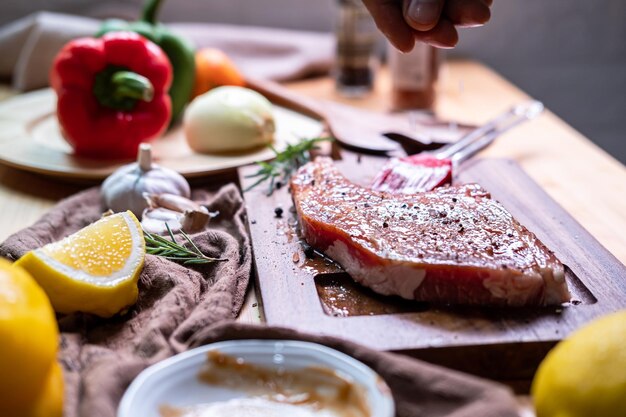
[[259,170],[254,174],[246,175],[246,178],[258,177],[258,180],[246,187],[244,192],[269,180],[267,195],[272,195],[277,188],[277,180],[283,184],[289,181],[295,170],[311,160],[311,151],[318,148],[317,144],[329,140],[333,139],[329,137],[302,139],[298,143],[287,144],[287,148],[282,152],[278,152],[276,148],[269,145],[276,156],[271,162],[257,162]]

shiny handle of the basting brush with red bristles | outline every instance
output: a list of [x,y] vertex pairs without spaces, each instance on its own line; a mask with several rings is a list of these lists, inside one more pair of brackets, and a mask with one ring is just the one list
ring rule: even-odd
[[[543,111],[543,104],[536,100],[527,101],[518,104],[508,111],[502,113],[495,119],[486,123],[485,125],[472,130],[461,139],[440,149],[435,152],[435,157],[438,159],[456,159],[455,157],[460,152],[463,152],[466,148],[471,147],[474,149],[474,153],[488,146],[493,140],[502,132],[509,130],[510,128],[517,126],[519,123],[533,119],[537,117]],[[496,133],[492,137],[492,133]],[[485,137],[491,138],[491,140],[483,140]],[[475,143],[480,143],[479,146],[474,146]],[[473,155],[473,154],[472,154]],[[469,157],[469,156],[468,156]],[[468,158],[465,157],[465,158]]]

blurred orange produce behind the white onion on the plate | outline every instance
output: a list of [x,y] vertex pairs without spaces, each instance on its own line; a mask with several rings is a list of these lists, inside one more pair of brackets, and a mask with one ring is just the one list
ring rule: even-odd
[[222,85],[245,86],[246,82],[231,59],[219,49],[202,48],[196,52],[196,81],[193,97]]

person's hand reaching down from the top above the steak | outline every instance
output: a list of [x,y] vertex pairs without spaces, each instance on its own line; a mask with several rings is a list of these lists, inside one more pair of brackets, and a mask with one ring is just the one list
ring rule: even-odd
[[408,52],[415,41],[453,48],[457,27],[485,24],[493,0],[363,0],[376,25],[399,50]]

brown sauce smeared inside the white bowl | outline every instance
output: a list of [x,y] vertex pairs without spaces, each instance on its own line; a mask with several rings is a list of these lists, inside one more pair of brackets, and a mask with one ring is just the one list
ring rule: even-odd
[[244,391],[247,397],[186,407],[162,405],[161,417],[370,417],[363,389],[330,368],[269,368],[210,351],[198,378]]

